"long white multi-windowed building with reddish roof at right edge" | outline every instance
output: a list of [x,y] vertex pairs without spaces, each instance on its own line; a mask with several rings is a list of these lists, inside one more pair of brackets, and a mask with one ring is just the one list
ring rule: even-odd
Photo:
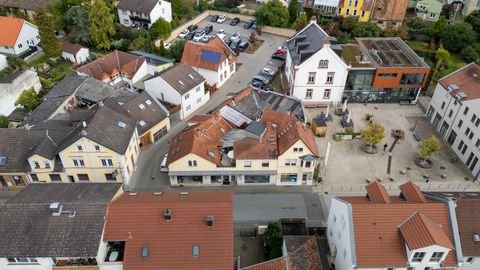
[[480,176],[480,67],[470,63],[441,78],[427,119],[475,180]]

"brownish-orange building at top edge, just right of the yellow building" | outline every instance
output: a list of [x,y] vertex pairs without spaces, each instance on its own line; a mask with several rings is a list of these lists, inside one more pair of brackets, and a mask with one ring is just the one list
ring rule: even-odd
[[371,20],[382,29],[387,27],[398,28],[405,19],[407,8],[408,0],[376,0]]

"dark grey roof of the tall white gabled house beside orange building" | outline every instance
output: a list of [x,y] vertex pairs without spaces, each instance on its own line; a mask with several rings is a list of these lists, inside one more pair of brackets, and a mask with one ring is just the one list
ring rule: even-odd
[[310,23],[287,41],[287,48],[293,64],[300,65],[315,54],[325,43],[334,43],[336,39],[327,35],[316,23]]

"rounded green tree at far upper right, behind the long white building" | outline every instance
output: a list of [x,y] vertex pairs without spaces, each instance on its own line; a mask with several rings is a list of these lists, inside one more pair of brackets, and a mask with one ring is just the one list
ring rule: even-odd
[[476,34],[472,26],[467,23],[455,23],[448,25],[440,35],[445,49],[459,53],[463,48],[473,44]]

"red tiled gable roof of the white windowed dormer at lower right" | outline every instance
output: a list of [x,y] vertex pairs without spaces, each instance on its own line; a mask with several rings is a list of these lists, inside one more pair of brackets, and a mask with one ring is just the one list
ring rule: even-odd
[[410,250],[432,245],[455,249],[443,228],[420,212],[410,216],[399,229]]

